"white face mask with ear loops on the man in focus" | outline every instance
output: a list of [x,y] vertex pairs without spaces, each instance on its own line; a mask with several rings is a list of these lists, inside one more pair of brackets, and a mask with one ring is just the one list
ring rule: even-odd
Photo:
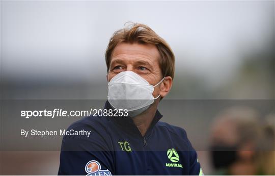
[[130,117],[139,115],[160,96],[154,97],[153,91],[164,78],[153,86],[133,71],[122,71],[108,82],[108,102],[115,109],[127,109]]

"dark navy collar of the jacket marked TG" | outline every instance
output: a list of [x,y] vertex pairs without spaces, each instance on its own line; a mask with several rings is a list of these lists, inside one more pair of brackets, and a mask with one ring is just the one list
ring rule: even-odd
[[[111,105],[109,104],[108,101],[105,103],[104,109],[112,109]],[[155,116],[150,124],[149,129],[147,130],[145,137],[149,136],[156,125],[156,123],[160,120],[162,115],[158,110],[156,110]],[[134,133],[134,134],[139,134],[141,135],[139,129],[137,129],[136,125],[133,122],[133,119],[131,117],[108,117],[109,120],[113,121],[114,123],[118,124],[120,128],[126,130],[127,132]]]

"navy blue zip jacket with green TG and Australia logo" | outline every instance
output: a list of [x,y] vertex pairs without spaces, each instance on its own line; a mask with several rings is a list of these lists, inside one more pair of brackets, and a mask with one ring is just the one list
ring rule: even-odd
[[[105,109],[111,109],[108,102]],[[160,122],[157,111],[143,137],[130,117],[85,117],[68,130],[91,131],[64,136],[59,175],[199,175],[197,153],[186,132]]]

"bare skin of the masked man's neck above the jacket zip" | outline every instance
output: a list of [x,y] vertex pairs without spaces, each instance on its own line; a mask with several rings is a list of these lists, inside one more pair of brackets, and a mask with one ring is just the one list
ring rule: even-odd
[[154,116],[156,114],[157,105],[159,100],[156,100],[145,112],[133,117],[133,122],[136,125],[137,129],[141,132],[142,136],[145,136],[147,130],[149,129]]

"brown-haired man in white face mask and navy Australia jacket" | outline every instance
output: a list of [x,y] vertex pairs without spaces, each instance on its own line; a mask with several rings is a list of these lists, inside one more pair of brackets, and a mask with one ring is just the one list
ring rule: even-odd
[[104,110],[127,112],[86,117],[68,130],[91,131],[64,137],[59,174],[202,175],[186,132],[160,122],[160,99],[172,87],[175,57],[166,41],[144,24],[114,33],[105,61],[108,95]]

